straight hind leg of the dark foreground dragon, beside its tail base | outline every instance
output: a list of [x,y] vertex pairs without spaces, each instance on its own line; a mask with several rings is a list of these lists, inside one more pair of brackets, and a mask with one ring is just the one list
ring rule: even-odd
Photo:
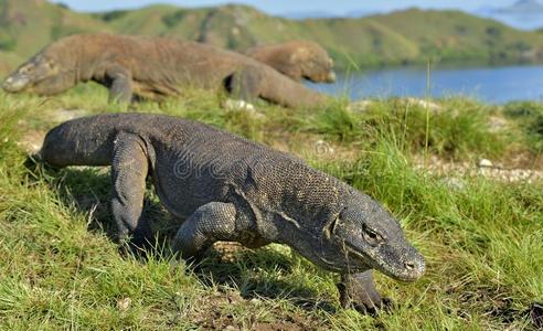
[[128,243],[132,249],[147,246],[151,237],[150,225],[142,216],[148,164],[141,139],[118,134],[111,162],[111,209],[119,242]]

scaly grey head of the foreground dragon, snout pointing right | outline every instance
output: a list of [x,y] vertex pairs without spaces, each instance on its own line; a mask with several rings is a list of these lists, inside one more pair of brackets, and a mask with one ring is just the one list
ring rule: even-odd
[[340,254],[328,255],[324,248],[326,259],[319,264],[340,273],[376,269],[396,280],[414,281],[425,270],[424,257],[407,242],[398,222],[358,191],[324,224],[322,238]]

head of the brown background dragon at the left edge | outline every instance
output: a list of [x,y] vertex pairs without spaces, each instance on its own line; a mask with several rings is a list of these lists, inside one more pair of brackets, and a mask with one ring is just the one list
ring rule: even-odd
[[11,73],[2,84],[9,93],[31,92],[52,95],[73,86],[73,76],[61,70],[58,61],[46,53],[39,53]]

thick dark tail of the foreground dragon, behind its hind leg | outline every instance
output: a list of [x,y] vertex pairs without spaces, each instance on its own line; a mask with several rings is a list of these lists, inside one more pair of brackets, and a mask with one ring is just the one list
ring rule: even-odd
[[116,125],[94,116],[64,122],[47,132],[39,157],[55,168],[110,166]]

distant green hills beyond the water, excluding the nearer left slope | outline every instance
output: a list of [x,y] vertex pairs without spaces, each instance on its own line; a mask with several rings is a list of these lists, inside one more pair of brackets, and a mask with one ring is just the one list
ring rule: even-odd
[[123,33],[177,35],[234,50],[292,39],[315,40],[342,66],[428,58],[485,63],[543,58],[540,34],[458,11],[412,9],[361,19],[289,21],[242,6],[196,10],[150,7],[99,17],[107,17],[107,22]]

